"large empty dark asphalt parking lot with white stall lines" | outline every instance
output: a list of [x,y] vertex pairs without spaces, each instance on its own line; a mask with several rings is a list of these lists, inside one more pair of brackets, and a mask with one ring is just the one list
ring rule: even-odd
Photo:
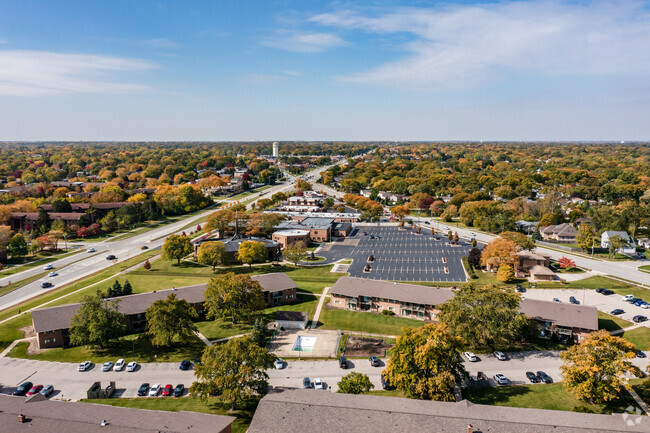
[[[471,245],[462,239],[449,245],[446,234],[430,235],[423,226],[422,234],[395,226],[359,226],[343,242],[331,245],[318,254],[328,261],[351,258],[351,277],[390,281],[467,281],[461,258]],[[364,232],[366,234],[364,234]],[[375,257],[370,272],[364,272],[370,255]]]

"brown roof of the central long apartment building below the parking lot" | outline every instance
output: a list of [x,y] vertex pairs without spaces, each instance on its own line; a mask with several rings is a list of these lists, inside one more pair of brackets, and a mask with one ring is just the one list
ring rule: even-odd
[[454,297],[454,292],[451,289],[355,277],[339,278],[330,289],[330,293],[355,298],[372,296],[425,305],[444,304]]

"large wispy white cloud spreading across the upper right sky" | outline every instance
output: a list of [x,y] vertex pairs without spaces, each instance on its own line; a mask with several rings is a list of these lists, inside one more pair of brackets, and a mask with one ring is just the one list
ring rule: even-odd
[[311,21],[371,34],[408,34],[407,54],[344,81],[466,89],[512,74],[647,75],[650,14],[642,3],[548,1],[354,11]]

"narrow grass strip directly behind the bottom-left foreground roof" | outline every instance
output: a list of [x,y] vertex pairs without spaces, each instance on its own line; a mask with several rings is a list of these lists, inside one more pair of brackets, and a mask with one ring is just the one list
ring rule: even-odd
[[[186,383],[185,386],[189,386]],[[84,403],[107,404],[110,406],[131,407],[136,409],[164,410],[168,412],[179,412],[186,410],[190,412],[202,412],[213,415],[234,416],[237,419],[232,424],[232,433],[245,433],[253,419],[253,413],[257,408],[259,400],[254,399],[246,402],[243,409],[236,412],[229,412],[217,397],[201,400],[192,397],[183,398],[109,398],[97,400],[81,400]],[[155,416],[155,415],[154,415]]]

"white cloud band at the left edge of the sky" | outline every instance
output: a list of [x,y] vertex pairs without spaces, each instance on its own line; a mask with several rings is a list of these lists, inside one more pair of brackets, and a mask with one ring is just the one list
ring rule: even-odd
[[154,68],[123,57],[48,51],[0,51],[0,95],[39,96],[68,93],[126,93],[146,89],[123,82],[122,72]]

